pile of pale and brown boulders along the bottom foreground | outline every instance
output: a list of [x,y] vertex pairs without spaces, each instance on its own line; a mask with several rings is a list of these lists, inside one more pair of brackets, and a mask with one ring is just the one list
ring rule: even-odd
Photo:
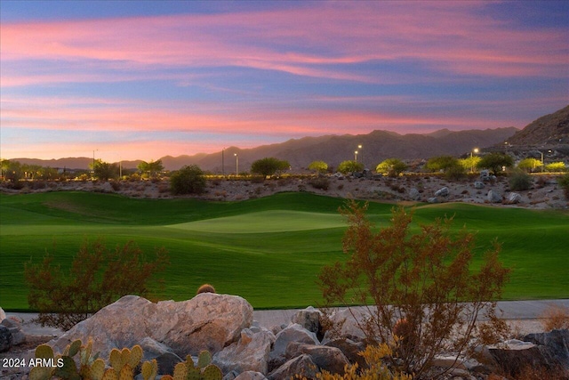
[[[72,341],[86,342],[91,336],[93,352],[102,358],[113,348],[140,344],[143,360],[156,359],[161,374],[172,374],[187,355],[208,350],[224,380],[314,378],[323,369],[342,374],[347,364],[365,365],[358,355],[365,350],[365,339],[349,315],[343,310],[328,316],[345,322],[334,334],[324,331],[323,314],[314,308],[298,311],[287,325],[268,329],[252,319],[251,304],[235,295],[204,293],[188,301],[159,303],[126,295],[49,344],[62,352]],[[455,380],[495,371],[516,374],[527,363],[569,373],[568,330],[525,336],[525,341],[482,347],[484,364],[450,356],[435,358],[434,365],[448,368]]]

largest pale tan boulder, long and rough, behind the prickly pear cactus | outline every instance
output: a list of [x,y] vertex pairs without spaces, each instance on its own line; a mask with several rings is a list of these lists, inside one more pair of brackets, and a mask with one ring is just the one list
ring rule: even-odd
[[185,358],[202,350],[220,352],[251,325],[252,306],[236,295],[203,293],[188,301],[159,303],[125,295],[78,323],[52,345],[61,352],[70,342],[92,336],[93,351],[108,357],[113,348],[132,347],[150,337]]

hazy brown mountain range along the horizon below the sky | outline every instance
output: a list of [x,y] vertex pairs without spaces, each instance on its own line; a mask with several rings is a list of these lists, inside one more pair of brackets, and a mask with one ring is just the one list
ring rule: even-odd
[[[237,168],[239,172],[248,171],[253,161],[266,157],[287,160],[293,169],[298,171],[316,160],[337,167],[341,161],[355,159],[357,150],[357,160],[363,162],[366,167],[374,168],[386,158],[417,159],[440,155],[459,157],[468,155],[475,148],[482,150],[487,147],[495,150],[495,147],[544,144],[560,148],[569,144],[569,106],[538,118],[522,130],[510,126],[467,131],[441,129],[427,134],[399,134],[389,131],[373,131],[357,135],[330,134],[292,139],[252,149],[230,147],[212,154],[164,156],[160,159],[167,170],[177,170],[185,165],[197,165],[207,171],[231,174],[235,173]],[[359,146],[361,148],[358,148]],[[69,169],[86,169],[92,163],[92,158],[52,160],[14,158],[13,160],[31,165]],[[140,160],[122,162],[124,168],[135,168],[138,164]]]

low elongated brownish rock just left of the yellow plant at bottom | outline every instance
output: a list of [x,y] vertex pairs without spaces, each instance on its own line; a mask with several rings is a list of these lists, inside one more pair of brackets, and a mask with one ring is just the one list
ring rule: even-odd
[[336,347],[293,342],[286,347],[286,358],[296,358],[307,354],[318,368],[334,374],[343,374],[344,367],[349,364],[346,356]]

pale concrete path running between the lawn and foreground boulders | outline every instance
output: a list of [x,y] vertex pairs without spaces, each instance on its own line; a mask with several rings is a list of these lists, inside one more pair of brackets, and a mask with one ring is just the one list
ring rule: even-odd
[[[565,300],[539,300],[539,301],[501,301],[498,308],[502,319],[537,319],[550,306],[561,306],[569,310],[569,299]],[[358,308],[364,310],[364,308]],[[257,310],[253,311],[253,319],[262,327],[287,325],[293,315],[301,309],[289,310]],[[22,330],[30,335],[60,336],[62,331],[52,327],[41,327],[31,322],[36,313],[6,312],[6,316],[16,316],[24,320]]]

